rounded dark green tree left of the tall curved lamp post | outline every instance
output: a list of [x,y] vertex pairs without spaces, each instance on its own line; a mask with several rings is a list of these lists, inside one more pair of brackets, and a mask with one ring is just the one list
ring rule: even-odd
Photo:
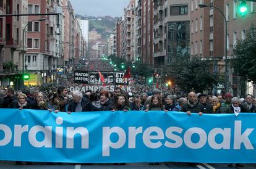
[[219,76],[210,71],[207,60],[192,59],[174,64],[169,69],[169,78],[181,91],[189,93],[195,90],[202,93],[218,85]]

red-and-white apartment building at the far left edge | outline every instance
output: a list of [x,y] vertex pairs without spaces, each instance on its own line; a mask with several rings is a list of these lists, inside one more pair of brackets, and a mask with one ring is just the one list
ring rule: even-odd
[[[1,14],[27,12],[27,0],[1,0]],[[22,85],[22,30],[27,17],[0,18],[0,86],[21,88]]]

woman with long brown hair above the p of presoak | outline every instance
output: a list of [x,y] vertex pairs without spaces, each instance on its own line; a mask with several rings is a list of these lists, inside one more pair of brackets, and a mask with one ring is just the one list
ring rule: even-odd
[[129,101],[124,94],[114,95],[112,111],[115,111],[115,110],[124,110],[125,112],[130,110]]

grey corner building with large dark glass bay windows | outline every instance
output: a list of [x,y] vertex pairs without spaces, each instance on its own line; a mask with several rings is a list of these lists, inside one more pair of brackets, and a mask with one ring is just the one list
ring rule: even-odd
[[154,63],[174,64],[188,59],[189,1],[154,1]]

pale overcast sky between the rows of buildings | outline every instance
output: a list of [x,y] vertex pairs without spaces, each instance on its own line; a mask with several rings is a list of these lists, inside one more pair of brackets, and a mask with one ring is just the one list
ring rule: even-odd
[[130,0],[70,0],[75,14],[121,17]]

